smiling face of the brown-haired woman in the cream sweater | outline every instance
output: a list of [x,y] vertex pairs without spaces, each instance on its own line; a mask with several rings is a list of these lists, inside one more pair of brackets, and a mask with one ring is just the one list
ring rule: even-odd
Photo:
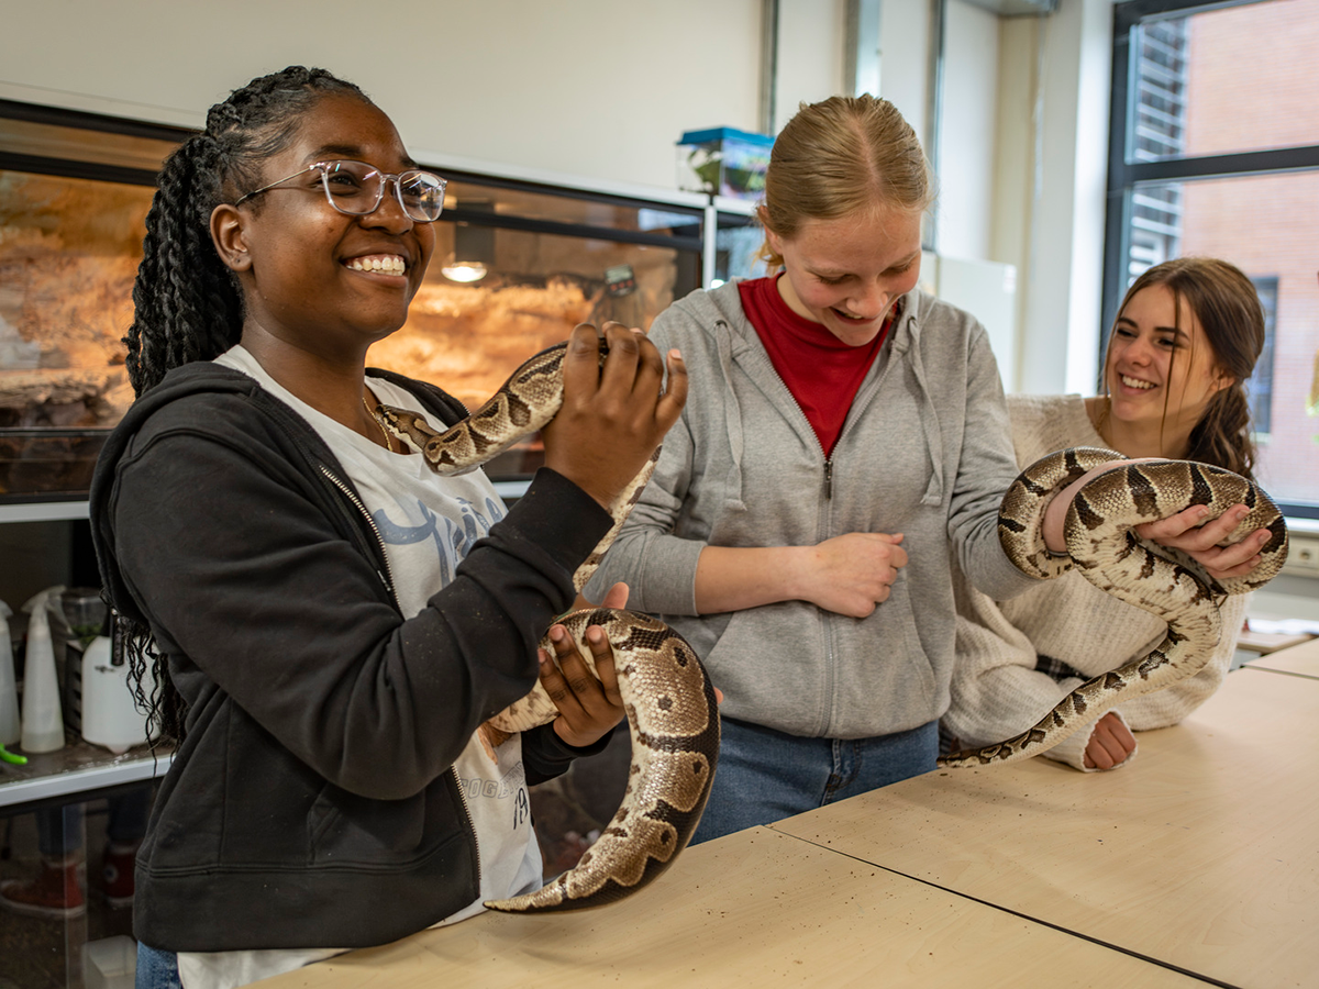
[[1231,384],[1200,320],[1166,285],[1136,293],[1117,316],[1104,365],[1109,415],[1128,426],[1166,423],[1190,431],[1210,400]]

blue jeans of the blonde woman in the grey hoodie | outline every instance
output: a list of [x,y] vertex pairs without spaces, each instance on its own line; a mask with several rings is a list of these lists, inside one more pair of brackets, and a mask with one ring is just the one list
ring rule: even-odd
[[939,723],[874,738],[802,738],[723,719],[719,767],[691,844],[770,824],[934,769]]

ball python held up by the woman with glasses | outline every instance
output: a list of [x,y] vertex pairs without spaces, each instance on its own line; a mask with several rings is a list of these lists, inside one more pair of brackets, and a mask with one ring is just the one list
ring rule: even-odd
[[[437,433],[405,409],[383,405],[377,422],[422,454],[435,473],[454,475],[477,467],[508,450],[554,418],[563,405],[562,343],[541,351],[517,371],[480,409]],[[600,342],[603,367],[607,347]],[[611,514],[613,526],[572,575],[580,591],[613,542],[641,489],[654,472],[657,450]],[[613,646],[619,692],[632,734],[632,766],[617,814],[578,864],[536,893],[489,901],[491,910],[550,913],[579,910],[621,899],[656,880],[691,839],[710,798],[719,761],[719,711],[714,687],[695,650],[661,621],[634,612],[596,608],[559,620],[578,642],[595,671],[584,645],[588,625],[599,625]],[[541,647],[551,657],[549,638]],[[492,717],[483,732],[522,732],[547,724],[558,708],[537,683],[521,700]]]

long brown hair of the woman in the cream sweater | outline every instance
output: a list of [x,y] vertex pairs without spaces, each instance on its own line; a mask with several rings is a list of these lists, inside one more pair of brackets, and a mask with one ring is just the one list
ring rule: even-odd
[[[1245,382],[1264,349],[1264,306],[1260,305],[1254,284],[1228,261],[1216,257],[1179,257],[1154,265],[1132,282],[1117,315],[1121,316],[1136,293],[1151,285],[1163,285],[1173,293],[1177,323],[1182,319],[1182,302],[1190,306],[1204,330],[1215,367],[1229,378],[1229,384],[1210,398],[1200,421],[1191,430],[1191,448],[1186,459],[1252,477],[1256,448]],[[1109,332],[1108,349],[1112,345],[1113,336]],[[1100,371],[1100,394],[1104,396],[1108,394],[1108,349]],[[1169,364],[1170,377],[1174,364],[1175,361]],[[1165,392],[1165,422],[1167,413]]]

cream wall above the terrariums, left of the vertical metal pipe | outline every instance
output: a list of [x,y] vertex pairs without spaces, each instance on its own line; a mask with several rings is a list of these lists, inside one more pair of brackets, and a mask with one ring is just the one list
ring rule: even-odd
[[[0,98],[195,127],[255,75],[321,65],[414,154],[673,189],[683,131],[756,129],[760,17],[761,0],[5,0]],[[807,42],[803,71],[840,55]]]

